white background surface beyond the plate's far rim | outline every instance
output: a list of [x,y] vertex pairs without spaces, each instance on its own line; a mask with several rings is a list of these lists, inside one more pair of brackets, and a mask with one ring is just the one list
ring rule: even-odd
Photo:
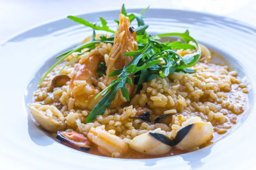
[[[0,0],[0,42],[36,25],[92,11],[126,8],[169,8],[203,11],[256,26],[256,0]],[[170,16],[172,17],[172,16]]]

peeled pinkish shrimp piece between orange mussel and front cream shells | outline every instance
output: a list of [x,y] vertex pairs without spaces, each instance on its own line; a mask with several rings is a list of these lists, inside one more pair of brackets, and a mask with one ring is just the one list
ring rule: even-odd
[[104,155],[119,157],[128,149],[127,143],[115,134],[105,130],[105,126],[92,127],[87,134],[90,141],[98,145],[98,149]]

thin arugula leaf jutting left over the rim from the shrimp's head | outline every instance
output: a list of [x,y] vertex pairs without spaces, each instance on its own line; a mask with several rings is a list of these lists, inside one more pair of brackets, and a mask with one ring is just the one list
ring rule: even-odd
[[96,25],[96,24],[92,24],[86,20],[84,20],[83,18],[79,18],[79,17],[74,17],[69,15],[68,18],[70,18],[71,20],[74,20],[74,22],[77,22],[79,24],[83,24],[86,27],[91,27],[94,30],[102,30],[102,31],[108,31],[108,32],[112,32],[115,33],[115,31],[109,29],[108,27],[108,22],[106,22],[106,20],[104,20],[104,18],[100,17],[100,22],[102,24],[102,26]]

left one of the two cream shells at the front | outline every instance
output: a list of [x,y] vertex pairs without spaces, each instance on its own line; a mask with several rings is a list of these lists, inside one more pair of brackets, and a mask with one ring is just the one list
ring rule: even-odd
[[[156,129],[159,131],[159,129]],[[152,133],[156,132],[152,131]],[[162,134],[163,135],[163,134]],[[136,136],[129,142],[129,146],[140,153],[148,155],[161,155],[167,153],[172,148],[151,136],[148,132]]]

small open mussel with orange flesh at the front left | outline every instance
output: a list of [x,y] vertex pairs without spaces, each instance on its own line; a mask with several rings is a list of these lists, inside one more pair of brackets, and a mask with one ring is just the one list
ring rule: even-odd
[[60,141],[81,148],[81,150],[90,150],[90,142],[83,134],[79,132],[58,131],[56,138],[59,139]]

